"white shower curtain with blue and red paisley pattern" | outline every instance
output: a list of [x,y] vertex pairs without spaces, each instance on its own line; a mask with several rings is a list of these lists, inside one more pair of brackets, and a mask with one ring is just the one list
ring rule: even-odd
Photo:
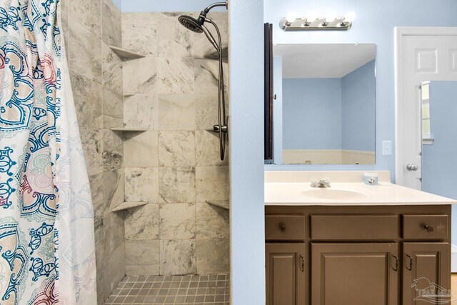
[[0,0],[0,305],[96,304],[91,192],[59,6]]

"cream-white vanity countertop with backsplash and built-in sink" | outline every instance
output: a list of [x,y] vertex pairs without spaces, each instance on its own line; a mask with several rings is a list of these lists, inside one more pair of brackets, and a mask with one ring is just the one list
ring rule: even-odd
[[[361,171],[339,171],[337,173],[334,171],[314,171],[305,173],[302,171],[269,171],[266,172],[265,175],[265,205],[398,206],[457,204],[457,201],[453,199],[448,199],[446,197],[429,194],[424,191],[417,191],[416,189],[409,189],[404,186],[391,184],[390,174],[388,174],[386,171],[374,172],[378,172],[379,174],[379,182],[376,186],[363,184],[363,172]],[[317,179],[328,177],[328,179],[331,181],[331,191],[353,191],[357,194],[360,194],[360,196],[356,196],[351,199],[321,199],[315,196],[306,196],[306,191],[326,191],[326,189],[311,187],[311,176],[316,176]],[[304,194],[302,194],[303,192]]]

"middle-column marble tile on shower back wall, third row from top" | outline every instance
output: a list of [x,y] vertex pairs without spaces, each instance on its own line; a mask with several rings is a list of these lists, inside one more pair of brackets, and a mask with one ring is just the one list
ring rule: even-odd
[[159,130],[195,130],[193,94],[159,94]]

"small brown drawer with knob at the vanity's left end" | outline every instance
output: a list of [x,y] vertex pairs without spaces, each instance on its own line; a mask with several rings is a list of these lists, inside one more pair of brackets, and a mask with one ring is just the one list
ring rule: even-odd
[[305,216],[267,215],[265,216],[265,239],[277,241],[304,241]]

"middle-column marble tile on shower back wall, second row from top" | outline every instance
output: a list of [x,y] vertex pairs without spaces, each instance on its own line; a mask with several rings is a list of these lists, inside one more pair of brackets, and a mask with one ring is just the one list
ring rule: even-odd
[[191,57],[159,57],[157,74],[157,92],[159,94],[194,92],[194,59]]

